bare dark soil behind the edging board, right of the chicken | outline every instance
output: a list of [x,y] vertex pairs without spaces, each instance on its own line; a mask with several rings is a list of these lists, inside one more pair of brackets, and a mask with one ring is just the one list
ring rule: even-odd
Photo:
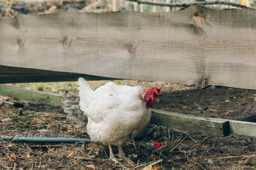
[[207,89],[165,90],[161,93],[161,103],[154,108],[185,113],[200,117],[224,118],[256,122],[246,112],[246,108],[256,101],[256,90],[234,89],[228,87],[209,87]]

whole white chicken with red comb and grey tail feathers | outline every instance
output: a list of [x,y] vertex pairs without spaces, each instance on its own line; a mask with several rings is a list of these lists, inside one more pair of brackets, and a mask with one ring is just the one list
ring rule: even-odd
[[78,79],[78,85],[79,96],[68,92],[63,97],[67,117],[75,120],[92,141],[108,145],[109,159],[116,160],[114,145],[118,146],[118,157],[127,160],[122,144],[131,141],[148,124],[150,107],[159,101],[161,89],[129,87],[111,81],[93,91],[84,78]]

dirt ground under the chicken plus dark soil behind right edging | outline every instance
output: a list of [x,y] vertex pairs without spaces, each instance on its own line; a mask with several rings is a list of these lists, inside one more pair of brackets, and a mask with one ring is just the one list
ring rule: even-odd
[[[241,112],[254,103],[255,90],[170,85],[163,88],[155,109],[204,117],[239,119]],[[62,108],[0,97],[15,108],[1,105],[1,136],[89,138],[74,128]],[[147,143],[161,143],[152,148]],[[248,136],[211,136],[151,125],[142,141],[124,145],[134,164],[111,162],[109,150],[100,143],[23,143],[0,140],[2,169],[256,169],[256,138]],[[114,152],[117,149],[114,148]],[[148,169],[150,169],[148,167]]]

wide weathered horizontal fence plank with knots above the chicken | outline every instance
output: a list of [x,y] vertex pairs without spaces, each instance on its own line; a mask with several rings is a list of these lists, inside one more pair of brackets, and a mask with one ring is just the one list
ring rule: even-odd
[[0,65],[256,89],[255,17],[194,6],[1,18]]

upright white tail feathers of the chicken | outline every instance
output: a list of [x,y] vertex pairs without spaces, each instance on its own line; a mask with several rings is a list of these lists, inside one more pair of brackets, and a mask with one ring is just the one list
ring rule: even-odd
[[77,89],[79,91],[80,97],[79,104],[81,106],[81,110],[85,111],[90,102],[92,101],[93,90],[90,87],[89,83],[84,80],[84,78],[78,78],[78,85],[79,87],[77,87]]

